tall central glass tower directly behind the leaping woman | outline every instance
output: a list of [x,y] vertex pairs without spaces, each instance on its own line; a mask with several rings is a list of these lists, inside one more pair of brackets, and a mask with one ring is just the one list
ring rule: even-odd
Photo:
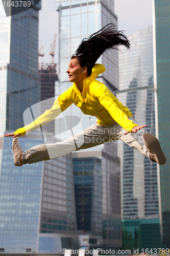
[[[75,53],[81,40],[109,23],[117,25],[117,16],[114,13],[114,0],[56,0],[56,4],[56,8],[59,11],[59,80],[61,84],[67,77],[66,70],[70,57]],[[97,61],[106,67],[106,71],[97,79],[105,83],[108,89],[114,94],[118,89],[118,51],[110,50],[107,54],[103,54]],[[70,86],[71,83],[65,81],[61,87],[57,88],[56,94],[59,96]],[[83,129],[96,121],[95,117],[89,119],[90,116],[84,115],[74,104],[65,110],[63,115],[80,117]],[[64,135],[62,136],[61,134],[60,138],[64,139]],[[93,161],[95,161],[95,157],[101,158],[103,219],[103,240],[101,240],[101,245],[106,247],[120,247],[122,245],[119,198],[120,173],[116,146],[113,143],[104,144],[103,146],[96,146],[72,154],[74,158],[80,157],[81,161],[85,162],[87,160],[83,160],[82,158],[92,157]],[[93,169],[91,171],[94,174],[95,170]],[[80,166],[81,172],[82,166]],[[95,175],[93,179],[95,179]],[[116,186],[113,186],[113,184],[116,184]],[[77,184],[75,185],[77,186]],[[95,189],[95,185],[91,188]],[[95,198],[93,199],[95,200]],[[82,225],[83,220],[79,223]],[[97,223],[97,221],[95,220],[94,223]]]

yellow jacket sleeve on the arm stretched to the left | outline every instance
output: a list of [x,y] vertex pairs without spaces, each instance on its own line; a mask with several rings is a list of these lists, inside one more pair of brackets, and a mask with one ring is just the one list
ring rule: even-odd
[[17,133],[20,133],[20,136],[23,136],[40,126],[51,122],[56,117],[58,117],[64,110],[66,110],[73,102],[73,89],[70,87],[68,90],[66,90],[64,93],[62,93],[57,100],[54,101],[54,105],[50,110],[46,110],[41,116],[39,116],[36,120],[34,120],[32,123],[19,128],[14,132],[16,135]]

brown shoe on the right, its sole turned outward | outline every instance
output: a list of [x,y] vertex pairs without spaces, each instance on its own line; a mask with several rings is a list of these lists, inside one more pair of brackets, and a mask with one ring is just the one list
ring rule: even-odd
[[150,160],[155,161],[160,165],[165,164],[166,157],[163,154],[159,140],[150,133],[143,133],[142,137],[150,155]]

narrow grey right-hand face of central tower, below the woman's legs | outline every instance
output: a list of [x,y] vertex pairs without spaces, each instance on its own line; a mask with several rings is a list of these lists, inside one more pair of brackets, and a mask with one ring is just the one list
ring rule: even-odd
[[102,211],[105,248],[122,247],[120,159],[115,142],[102,148]]

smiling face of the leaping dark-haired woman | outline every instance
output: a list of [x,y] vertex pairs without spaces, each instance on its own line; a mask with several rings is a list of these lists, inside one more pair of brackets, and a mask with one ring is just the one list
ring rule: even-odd
[[66,71],[69,76],[69,82],[80,82],[84,80],[86,78],[84,74],[86,71],[86,67],[82,68],[77,58],[71,59]]

